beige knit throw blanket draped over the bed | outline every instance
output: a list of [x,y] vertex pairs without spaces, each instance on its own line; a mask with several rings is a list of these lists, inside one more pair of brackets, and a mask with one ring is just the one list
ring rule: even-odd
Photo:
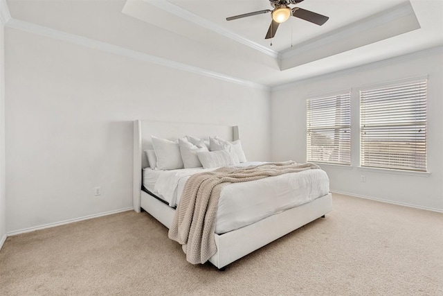
[[205,263],[217,252],[215,220],[219,195],[224,186],[313,168],[320,167],[289,161],[244,168],[226,166],[192,175],[183,189],[168,236],[182,245],[186,260],[190,263]]

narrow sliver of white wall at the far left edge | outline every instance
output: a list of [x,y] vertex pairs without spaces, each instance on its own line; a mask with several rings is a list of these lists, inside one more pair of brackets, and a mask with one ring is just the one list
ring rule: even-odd
[[6,240],[5,193],[5,26],[0,21],[0,248]]

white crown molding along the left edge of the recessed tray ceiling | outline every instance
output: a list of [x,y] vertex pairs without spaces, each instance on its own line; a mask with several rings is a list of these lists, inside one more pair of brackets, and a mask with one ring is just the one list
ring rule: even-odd
[[239,43],[245,44],[246,46],[251,47],[252,49],[255,49],[257,51],[260,51],[266,55],[269,55],[273,58],[278,58],[279,53],[277,51],[273,51],[272,49],[268,49],[266,46],[262,46],[262,44],[258,44],[257,42],[253,42],[252,40],[248,40],[236,33],[233,33],[232,31],[227,30],[226,28],[223,28],[222,26],[219,26],[217,24],[214,24],[212,21],[208,21],[208,19],[205,19],[204,17],[200,17],[199,15],[195,15],[194,13],[185,10],[179,6],[176,6],[169,1],[165,0],[143,0],[147,3],[149,3],[152,6],[155,6],[156,8],[163,9],[167,12],[172,13],[173,15],[177,15],[177,17],[181,17],[182,19],[185,19],[186,21],[190,21],[194,24],[197,24],[198,26],[202,26],[204,28],[209,29],[210,31],[213,31],[215,33],[218,33],[220,35],[224,35],[225,37],[228,37],[232,40],[235,40]]

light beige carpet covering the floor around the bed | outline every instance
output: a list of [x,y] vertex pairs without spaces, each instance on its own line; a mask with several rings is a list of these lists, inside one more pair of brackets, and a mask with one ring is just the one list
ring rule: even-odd
[[191,265],[127,211],[9,237],[0,295],[443,295],[443,214],[334,195],[334,211],[227,266]]

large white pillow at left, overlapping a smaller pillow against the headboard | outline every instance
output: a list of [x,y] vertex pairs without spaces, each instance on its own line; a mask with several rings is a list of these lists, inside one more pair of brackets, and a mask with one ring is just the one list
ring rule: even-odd
[[154,136],[151,136],[151,139],[157,157],[157,169],[175,170],[177,168],[183,168],[179,143]]

